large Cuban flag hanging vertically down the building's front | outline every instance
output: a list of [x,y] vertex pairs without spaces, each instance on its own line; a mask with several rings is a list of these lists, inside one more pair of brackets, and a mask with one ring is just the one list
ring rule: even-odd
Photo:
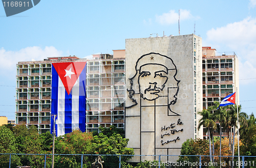
[[[60,136],[73,129],[86,131],[86,62],[52,63],[52,115]],[[53,132],[53,117],[51,132]]]

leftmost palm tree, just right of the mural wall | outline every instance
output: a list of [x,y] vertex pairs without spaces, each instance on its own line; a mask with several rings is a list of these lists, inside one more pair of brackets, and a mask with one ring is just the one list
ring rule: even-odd
[[210,162],[211,160],[211,139],[210,139],[210,128],[216,129],[216,122],[214,120],[214,115],[212,114],[212,107],[208,107],[207,109],[203,109],[198,113],[201,115],[201,119],[199,120],[198,130],[201,126],[205,126],[208,131],[209,138],[209,152],[210,152]]

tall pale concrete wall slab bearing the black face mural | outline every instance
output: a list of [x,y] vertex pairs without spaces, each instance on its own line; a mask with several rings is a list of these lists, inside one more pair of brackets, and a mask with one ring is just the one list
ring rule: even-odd
[[[202,138],[202,40],[195,35],[126,39],[125,136],[136,155],[179,155]],[[154,157],[152,158],[154,159]]]

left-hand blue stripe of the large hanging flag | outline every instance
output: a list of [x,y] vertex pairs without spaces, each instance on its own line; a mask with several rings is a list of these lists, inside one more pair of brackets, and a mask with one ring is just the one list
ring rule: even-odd
[[[55,76],[52,78],[52,106],[51,106],[51,115],[57,115],[58,114],[58,73],[55,70],[55,68],[52,66],[52,76]],[[55,118],[55,120],[58,119],[58,116]],[[53,132],[53,117],[51,117],[51,133]],[[55,131],[57,135],[57,124],[55,125]]]

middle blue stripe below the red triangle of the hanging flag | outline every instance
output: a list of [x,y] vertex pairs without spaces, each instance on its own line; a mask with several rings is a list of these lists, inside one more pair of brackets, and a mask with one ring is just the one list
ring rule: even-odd
[[65,133],[72,132],[72,91],[65,92]]

